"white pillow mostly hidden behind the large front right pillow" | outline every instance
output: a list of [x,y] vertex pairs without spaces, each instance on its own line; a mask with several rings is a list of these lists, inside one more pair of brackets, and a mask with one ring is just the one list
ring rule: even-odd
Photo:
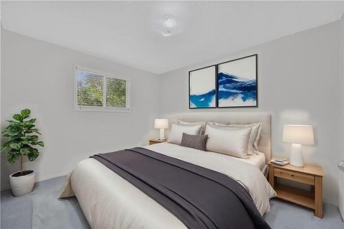
[[255,153],[255,151],[259,151],[258,142],[259,142],[260,132],[261,132],[261,124],[259,122],[252,123],[252,124],[221,124],[217,122],[212,122],[212,124],[215,124],[221,127],[252,127],[250,140],[248,141],[248,155],[257,154]]

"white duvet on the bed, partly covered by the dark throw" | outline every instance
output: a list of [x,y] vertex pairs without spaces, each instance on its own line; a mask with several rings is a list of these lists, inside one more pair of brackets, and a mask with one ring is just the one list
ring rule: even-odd
[[[269,199],[276,193],[258,166],[176,144],[144,148],[224,173],[248,190],[261,215],[270,210]],[[74,195],[92,228],[186,228],[168,210],[93,158],[77,164],[60,197]]]

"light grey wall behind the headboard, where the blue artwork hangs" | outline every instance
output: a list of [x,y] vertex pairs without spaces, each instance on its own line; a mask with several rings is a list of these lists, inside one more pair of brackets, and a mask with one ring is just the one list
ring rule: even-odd
[[[215,60],[162,74],[160,113],[197,111],[267,111],[272,115],[272,155],[289,157],[281,142],[283,124],[313,124],[315,146],[304,146],[306,163],[325,170],[325,201],[338,204],[339,23],[292,34]],[[188,108],[188,72],[258,54],[258,108]]]

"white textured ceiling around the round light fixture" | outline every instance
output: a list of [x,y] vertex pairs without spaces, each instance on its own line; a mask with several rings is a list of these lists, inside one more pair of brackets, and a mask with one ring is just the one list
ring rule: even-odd
[[[336,21],[343,1],[2,1],[3,28],[161,74]],[[178,30],[157,30],[173,14]]]

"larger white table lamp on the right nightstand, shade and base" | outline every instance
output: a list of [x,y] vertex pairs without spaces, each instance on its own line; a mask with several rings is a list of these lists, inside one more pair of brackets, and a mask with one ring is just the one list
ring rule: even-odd
[[292,143],[290,164],[303,167],[301,144],[314,145],[313,126],[285,124],[283,126],[282,141]]

